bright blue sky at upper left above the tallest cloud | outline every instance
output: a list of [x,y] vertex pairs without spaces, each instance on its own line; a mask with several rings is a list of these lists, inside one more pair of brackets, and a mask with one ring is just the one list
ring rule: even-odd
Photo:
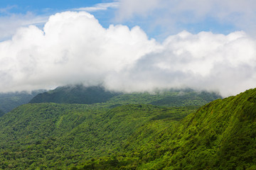
[[[93,7],[98,4],[112,3],[113,1],[83,1],[83,0],[3,0],[0,3],[0,32],[9,32],[3,35],[0,40],[6,40],[11,37],[17,28],[28,25],[36,25],[43,28],[48,17],[63,11],[79,11],[78,8]],[[107,10],[90,11],[98,18],[102,26],[108,27],[113,21],[114,11],[112,8]],[[6,21],[6,22],[5,22]],[[27,22],[26,22],[27,21]],[[1,33],[0,33],[1,34]],[[7,34],[7,33],[6,33]]]

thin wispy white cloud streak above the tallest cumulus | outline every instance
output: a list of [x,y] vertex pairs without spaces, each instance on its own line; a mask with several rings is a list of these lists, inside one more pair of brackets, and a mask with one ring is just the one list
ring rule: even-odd
[[111,3],[95,4],[95,6],[84,7],[84,8],[74,8],[73,10],[94,12],[94,11],[107,10],[107,8],[118,8],[118,7],[119,7],[119,2],[111,2]]

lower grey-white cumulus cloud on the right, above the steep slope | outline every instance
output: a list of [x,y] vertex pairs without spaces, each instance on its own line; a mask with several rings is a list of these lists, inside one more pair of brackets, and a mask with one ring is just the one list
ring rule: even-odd
[[[244,32],[169,36],[161,50],[137,60],[134,67],[107,77],[122,91],[183,88],[238,94],[256,86],[256,42]],[[125,76],[124,76],[125,75]]]

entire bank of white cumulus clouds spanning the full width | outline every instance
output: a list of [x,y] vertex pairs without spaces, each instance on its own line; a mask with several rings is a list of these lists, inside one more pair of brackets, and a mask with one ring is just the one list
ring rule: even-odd
[[256,41],[244,32],[183,31],[164,42],[137,27],[102,28],[86,12],[50,16],[0,42],[0,91],[103,84],[118,91],[191,87],[238,94],[256,85]]

